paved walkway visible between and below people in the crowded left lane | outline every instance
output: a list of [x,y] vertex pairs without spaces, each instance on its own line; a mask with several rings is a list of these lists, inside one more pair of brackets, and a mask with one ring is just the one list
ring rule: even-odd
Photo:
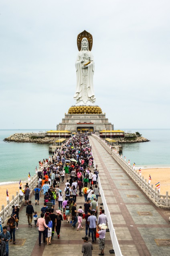
[[[92,170],[93,168],[91,168]],[[66,182],[66,178],[65,178]],[[60,188],[63,192],[65,188],[65,182],[61,183]],[[64,194],[64,193],[63,193]],[[65,196],[63,196],[65,198]],[[98,198],[98,203],[100,206],[101,197]],[[40,209],[44,203],[44,196],[40,197],[39,205],[35,206],[34,196],[32,195],[30,200],[32,201],[32,205],[34,207],[34,211],[38,212],[38,217],[40,217]],[[77,210],[79,206],[84,205],[84,196],[77,196]],[[98,206],[98,207],[99,207]],[[55,204],[55,210],[58,210],[58,202]],[[99,213],[99,211],[98,211]],[[19,212],[19,224],[18,230],[16,230],[16,245],[13,245],[11,242],[9,246],[10,255],[15,256],[47,256],[47,255],[64,255],[64,256],[82,256],[82,237],[85,236],[85,220],[83,220],[82,226],[84,227],[82,230],[73,229],[70,223],[66,221],[62,221],[61,224],[61,232],[60,238],[57,238],[57,233],[55,232],[54,238],[51,241],[51,245],[41,244],[39,246],[38,243],[38,229],[34,226],[34,221],[32,221],[32,227],[28,226],[27,217],[26,217],[26,206],[22,206]],[[41,239],[42,240],[42,239]],[[98,255],[99,245],[98,240],[93,244],[93,253],[92,255]],[[89,242],[92,242],[91,238],[89,238]],[[18,246],[17,246],[18,245]],[[106,242],[105,242],[105,256],[110,255],[109,250],[112,249],[111,239],[109,232],[106,233]]]

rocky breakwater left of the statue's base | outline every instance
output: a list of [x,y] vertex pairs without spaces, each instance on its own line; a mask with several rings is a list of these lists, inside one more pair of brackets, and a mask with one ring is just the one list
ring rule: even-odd
[[58,137],[42,137],[42,136],[34,136],[32,133],[15,133],[10,135],[8,138],[4,138],[5,141],[14,141],[14,142],[34,142],[34,143],[53,143],[58,139]]

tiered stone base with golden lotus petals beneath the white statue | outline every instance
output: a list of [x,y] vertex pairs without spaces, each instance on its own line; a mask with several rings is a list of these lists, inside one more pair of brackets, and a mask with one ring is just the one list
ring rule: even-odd
[[114,126],[96,105],[71,106],[57,127],[57,130],[71,132],[99,132],[105,129],[114,130]]

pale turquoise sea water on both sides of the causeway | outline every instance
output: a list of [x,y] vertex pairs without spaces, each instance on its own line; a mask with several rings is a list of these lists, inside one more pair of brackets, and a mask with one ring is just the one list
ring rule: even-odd
[[[49,144],[5,142],[4,138],[20,132],[39,130],[0,130],[0,184],[27,180],[38,169],[38,161],[49,158]],[[170,129],[122,129],[140,132],[150,142],[123,144],[123,157],[136,167],[170,167]]]

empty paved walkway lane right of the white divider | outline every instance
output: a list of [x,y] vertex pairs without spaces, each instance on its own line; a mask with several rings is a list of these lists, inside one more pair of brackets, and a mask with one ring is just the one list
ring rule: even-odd
[[89,141],[123,256],[169,256],[170,211],[157,208],[99,141]]

